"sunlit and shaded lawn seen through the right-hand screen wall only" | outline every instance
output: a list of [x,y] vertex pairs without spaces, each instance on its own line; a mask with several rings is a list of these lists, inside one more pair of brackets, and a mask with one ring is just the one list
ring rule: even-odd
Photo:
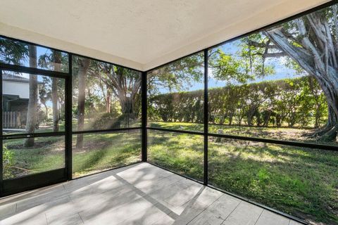
[[[203,178],[203,136],[148,132],[150,162]],[[209,137],[208,154],[210,184],[296,217],[338,224],[338,152]]]

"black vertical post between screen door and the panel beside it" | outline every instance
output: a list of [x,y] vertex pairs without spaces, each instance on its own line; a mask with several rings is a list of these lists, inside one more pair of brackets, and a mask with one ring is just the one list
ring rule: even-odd
[[72,155],[72,79],[73,79],[73,55],[68,53],[68,77],[65,79],[65,170],[68,180],[73,178],[73,155]]

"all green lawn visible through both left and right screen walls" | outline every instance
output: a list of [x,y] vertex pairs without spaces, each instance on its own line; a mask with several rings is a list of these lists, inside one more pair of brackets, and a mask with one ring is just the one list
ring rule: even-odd
[[[201,124],[153,123],[152,127],[200,130]],[[218,131],[219,127],[212,127]],[[244,134],[301,141],[305,129],[222,127],[225,134],[242,129]],[[148,160],[180,174],[202,180],[204,138],[200,135],[148,131]],[[84,134],[82,149],[75,148],[73,176],[83,176],[132,162],[139,162],[139,131]],[[34,148],[23,140],[5,140],[11,166],[29,169],[4,170],[5,178],[23,176],[64,166],[63,139],[35,139]],[[280,146],[209,137],[209,183],[296,217],[338,224],[338,153],[327,150]]]

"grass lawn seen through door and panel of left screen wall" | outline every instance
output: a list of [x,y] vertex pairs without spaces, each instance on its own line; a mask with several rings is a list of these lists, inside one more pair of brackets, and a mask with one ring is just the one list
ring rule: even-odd
[[[141,160],[140,131],[84,134],[83,148],[75,148],[73,136],[73,177],[128,165]],[[35,138],[35,146],[23,148],[24,139],[4,141],[11,155],[4,167],[4,179],[65,167],[64,137]]]

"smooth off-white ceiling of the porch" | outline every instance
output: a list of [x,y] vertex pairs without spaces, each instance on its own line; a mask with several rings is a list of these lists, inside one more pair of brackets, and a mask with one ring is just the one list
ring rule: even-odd
[[1,0],[0,34],[148,70],[327,0]]

